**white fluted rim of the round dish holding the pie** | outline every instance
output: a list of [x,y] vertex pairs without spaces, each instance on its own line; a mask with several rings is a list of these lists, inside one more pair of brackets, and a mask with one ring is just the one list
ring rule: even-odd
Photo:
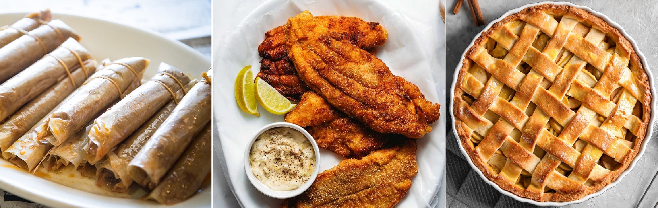
[[[547,207],[547,206],[564,206],[564,205],[570,205],[570,204],[574,204],[574,203],[581,203],[583,201],[587,201],[588,199],[591,199],[592,197],[596,197],[598,195],[601,195],[606,190],[608,190],[610,188],[613,188],[613,186],[617,185],[622,180],[622,178],[624,178],[624,176],[626,176],[628,174],[628,172],[630,172],[630,170],[632,170],[633,167],[635,167],[635,164],[637,163],[637,161],[644,154],[645,147],[647,146],[647,143],[651,139],[651,135],[653,135],[653,128],[651,128],[651,126],[653,126],[653,122],[655,121],[655,118],[656,118],[656,113],[655,113],[655,109],[656,109],[656,107],[655,107],[655,105],[656,105],[656,96],[655,95],[656,95],[656,93],[655,93],[655,89],[654,89],[655,87],[654,87],[654,84],[653,84],[653,76],[651,76],[651,70],[649,70],[649,65],[647,64],[647,59],[645,59],[644,55],[640,51],[640,48],[638,48],[637,43],[635,42],[635,40],[633,38],[631,38],[628,34],[626,34],[626,31],[624,30],[624,28],[622,28],[619,24],[617,24],[617,22],[614,22],[613,20],[608,18],[608,16],[605,16],[605,14],[601,14],[597,11],[594,11],[594,9],[591,9],[590,7],[585,7],[585,6],[582,6],[582,5],[575,5],[575,4],[569,3],[569,2],[555,2],[555,1],[543,1],[543,2],[540,2],[540,3],[531,3],[531,4],[523,5],[519,8],[517,8],[517,9],[512,9],[512,10],[508,11],[507,13],[501,15],[500,18],[497,18],[496,20],[493,20],[484,29],[482,29],[482,32],[489,30],[489,28],[492,26],[492,24],[494,24],[495,22],[499,22],[500,20],[503,20],[503,18],[505,18],[506,16],[509,16],[511,14],[519,13],[520,11],[522,11],[523,9],[526,9],[528,7],[532,7],[532,6],[535,6],[535,5],[542,5],[544,3],[552,3],[552,4],[555,4],[555,5],[569,5],[569,6],[572,6],[572,7],[576,7],[578,9],[583,9],[585,11],[589,11],[590,13],[594,14],[595,16],[603,18],[603,20],[608,22],[608,24],[610,24],[611,26],[617,28],[617,30],[619,30],[619,32],[621,32],[621,34],[624,37],[626,37],[626,39],[628,39],[628,41],[630,41],[630,43],[632,43],[633,48],[635,49],[636,53],[638,53],[638,56],[642,60],[642,65],[644,66],[644,70],[647,72],[647,75],[649,76],[649,85],[650,85],[649,88],[651,88],[651,94],[653,95],[653,97],[651,97],[651,118],[649,119],[649,124],[648,124],[649,128],[647,128],[647,134],[644,137],[644,141],[642,142],[642,149],[640,149],[640,153],[638,153],[638,155],[636,155],[635,159],[633,159],[632,163],[630,163],[630,166],[628,167],[628,169],[624,170],[624,172],[622,172],[619,175],[619,178],[617,178],[617,180],[611,182],[610,184],[608,184],[608,186],[605,186],[605,187],[601,188],[601,190],[599,190],[598,192],[594,192],[594,194],[586,195],[586,196],[584,196],[581,199],[578,199],[576,201],[567,201],[567,202],[545,201],[545,202],[540,202],[540,201],[534,201],[532,199],[528,199],[528,198],[524,198],[524,197],[519,197],[518,195],[512,194],[511,192],[508,192],[507,190],[503,190],[502,188],[500,188],[500,186],[498,186],[498,184],[495,184],[495,182],[492,182],[486,176],[484,176],[484,174],[482,174],[482,170],[478,169],[478,167],[476,167],[472,163],[472,161],[470,161],[470,158],[468,157],[468,153],[466,152],[464,147],[461,145],[461,141],[459,141],[460,140],[459,134],[457,134],[457,130],[454,128],[455,124],[454,123],[450,124],[450,125],[453,125],[453,134],[455,134],[455,138],[457,139],[457,143],[459,144],[459,149],[461,149],[461,153],[463,153],[466,158],[469,158],[466,161],[468,161],[468,164],[470,164],[470,167],[472,167],[472,169],[474,169],[475,172],[477,172],[480,175],[480,177],[482,178],[482,180],[484,180],[484,182],[486,182],[487,184],[493,186],[493,188],[495,188],[496,190],[498,190],[502,194],[505,194],[505,195],[507,195],[509,197],[512,197],[514,199],[517,199],[519,201],[526,202],[526,203],[531,203],[533,205],[538,205],[538,206],[542,206],[542,207]],[[468,47],[466,47],[467,49],[469,49],[470,47],[473,46],[473,43],[474,43],[475,39],[480,37],[482,32],[478,33],[473,38],[473,41],[471,41],[470,45],[468,45]],[[461,59],[459,60],[459,65],[457,65],[457,68],[455,68],[455,76],[453,77],[453,83],[450,87],[450,95],[449,95],[451,101],[455,97],[455,84],[457,84],[457,76],[459,76],[459,70],[461,69],[461,66],[463,65],[462,62],[464,61],[464,56],[465,55],[466,55],[466,51],[464,51],[464,54],[461,55]],[[449,109],[453,109],[453,102],[450,102]],[[449,115],[452,118],[452,120],[454,121],[455,120],[455,115],[453,115],[452,111],[449,113]]]

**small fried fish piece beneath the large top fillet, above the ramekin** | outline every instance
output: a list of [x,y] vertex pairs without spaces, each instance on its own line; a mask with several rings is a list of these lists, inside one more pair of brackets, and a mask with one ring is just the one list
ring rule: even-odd
[[382,134],[363,126],[313,91],[305,92],[285,119],[306,128],[318,147],[346,158],[361,158],[395,141],[396,137],[403,138],[399,134]]

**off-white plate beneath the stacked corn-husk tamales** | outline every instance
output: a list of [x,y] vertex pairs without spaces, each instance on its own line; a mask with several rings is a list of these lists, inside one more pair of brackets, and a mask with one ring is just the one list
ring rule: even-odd
[[[0,25],[10,25],[26,13],[0,14]],[[144,79],[153,76],[161,62],[180,68],[192,78],[201,78],[201,72],[208,70],[210,62],[191,47],[168,39],[151,30],[143,30],[71,14],[53,14],[53,19],[63,20],[82,36],[84,45],[97,61],[124,57],[145,57],[151,59]],[[23,170],[6,167],[11,163],[0,159],[0,188],[48,207],[210,207],[211,190],[191,197],[177,205],[159,205],[155,201],[124,199],[68,188],[34,176]]]

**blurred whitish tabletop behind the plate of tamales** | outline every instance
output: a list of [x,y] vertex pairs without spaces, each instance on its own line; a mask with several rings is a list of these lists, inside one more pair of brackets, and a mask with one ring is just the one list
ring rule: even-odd
[[[50,9],[147,28],[178,39],[210,58],[211,1],[209,0],[0,0],[0,13]],[[84,37],[83,37],[84,38]]]

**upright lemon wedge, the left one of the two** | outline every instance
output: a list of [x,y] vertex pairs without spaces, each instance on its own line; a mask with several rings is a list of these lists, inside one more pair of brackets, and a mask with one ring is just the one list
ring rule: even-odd
[[261,116],[258,113],[258,105],[256,105],[256,95],[254,94],[254,82],[253,82],[253,73],[251,72],[251,66],[245,66],[238,73],[236,78],[236,101],[238,101],[238,107],[245,113],[255,115],[257,117]]

